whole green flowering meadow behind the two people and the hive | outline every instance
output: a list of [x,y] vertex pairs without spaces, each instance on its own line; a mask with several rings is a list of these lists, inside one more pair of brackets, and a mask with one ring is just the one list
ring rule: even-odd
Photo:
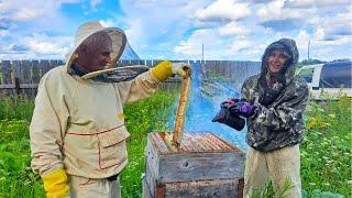
[[[123,197],[141,197],[146,134],[165,131],[175,95],[160,91],[125,107],[129,165],[121,173]],[[44,197],[41,178],[30,167],[29,124],[34,102],[0,100],[0,197]],[[351,99],[314,102],[307,107],[301,150],[304,197],[351,197]],[[271,197],[267,189],[266,197]]]

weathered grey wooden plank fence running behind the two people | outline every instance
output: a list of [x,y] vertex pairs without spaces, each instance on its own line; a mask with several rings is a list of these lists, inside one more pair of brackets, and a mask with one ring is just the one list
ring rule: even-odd
[[[145,61],[120,61],[118,66],[127,65],[147,65],[153,67],[161,59]],[[200,63],[199,61],[183,61],[195,64],[200,73],[207,78],[211,72],[220,74],[230,79],[233,85],[242,84],[245,77],[258,72],[258,62],[231,62],[231,61],[208,61]],[[24,95],[34,97],[42,76],[50,69],[63,65],[63,61],[2,61],[0,75],[0,96]],[[179,78],[170,78],[162,84],[163,88],[173,89],[179,86]],[[238,88],[238,87],[237,87]]]

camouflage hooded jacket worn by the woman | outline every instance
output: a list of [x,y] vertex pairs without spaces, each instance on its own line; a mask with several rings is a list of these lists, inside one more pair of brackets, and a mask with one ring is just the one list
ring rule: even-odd
[[[282,48],[289,58],[271,88],[265,77],[267,59],[275,48]],[[262,152],[295,145],[302,141],[302,112],[308,99],[305,80],[295,76],[298,50],[295,41],[282,38],[271,44],[262,57],[261,74],[249,77],[242,86],[242,97],[256,107],[248,119],[248,144]]]

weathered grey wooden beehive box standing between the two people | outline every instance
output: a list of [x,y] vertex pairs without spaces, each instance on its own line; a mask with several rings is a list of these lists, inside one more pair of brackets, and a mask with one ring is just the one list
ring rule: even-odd
[[166,133],[150,133],[145,150],[143,195],[170,197],[242,197],[244,153],[212,133],[185,133],[177,151]]

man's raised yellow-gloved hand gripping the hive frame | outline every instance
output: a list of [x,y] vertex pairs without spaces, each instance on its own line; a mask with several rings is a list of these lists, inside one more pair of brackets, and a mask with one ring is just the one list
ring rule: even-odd
[[172,63],[168,61],[164,61],[152,68],[152,74],[158,80],[164,81],[173,75],[179,75],[182,77],[185,77],[185,70],[187,69],[190,69],[190,66],[186,63]]

